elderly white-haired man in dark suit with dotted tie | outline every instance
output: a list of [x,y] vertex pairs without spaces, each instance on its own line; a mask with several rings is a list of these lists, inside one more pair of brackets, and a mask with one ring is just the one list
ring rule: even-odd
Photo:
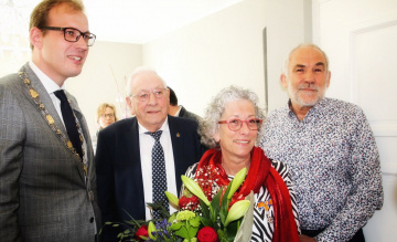
[[[98,136],[97,183],[104,223],[130,220],[127,213],[139,220],[152,219],[147,203],[153,202],[151,152],[155,144],[148,133],[162,131],[167,179],[161,182],[174,194],[181,188],[181,175],[205,151],[196,122],[168,115],[169,90],[154,71],[138,69],[127,92],[127,104],[136,116],[108,126]],[[105,240],[115,240],[107,231],[105,228]]]

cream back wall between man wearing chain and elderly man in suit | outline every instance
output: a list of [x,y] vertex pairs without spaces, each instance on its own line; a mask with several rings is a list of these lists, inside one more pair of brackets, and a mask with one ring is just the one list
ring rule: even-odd
[[[100,103],[114,104],[118,118],[126,114],[126,78],[141,64],[142,45],[98,41],[89,49],[82,74],[66,81],[66,88],[77,98],[92,135],[98,128],[96,111]],[[116,102],[119,92],[122,103]]]

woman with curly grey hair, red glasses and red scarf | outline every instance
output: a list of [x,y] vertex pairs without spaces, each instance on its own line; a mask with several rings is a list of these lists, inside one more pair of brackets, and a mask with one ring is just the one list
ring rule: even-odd
[[[208,198],[226,187],[234,176],[247,168],[230,206],[254,191],[254,224],[250,241],[299,241],[298,211],[288,168],[269,160],[257,147],[265,115],[257,95],[248,90],[227,87],[208,105],[200,122],[202,143],[208,147],[200,162],[186,176],[198,181]],[[192,202],[197,201],[196,198]],[[247,233],[250,231],[244,231]]]

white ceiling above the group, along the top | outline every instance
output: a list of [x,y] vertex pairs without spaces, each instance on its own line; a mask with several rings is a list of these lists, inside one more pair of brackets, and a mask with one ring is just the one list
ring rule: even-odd
[[[243,0],[83,0],[98,41],[142,44]],[[40,0],[0,0],[24,15]]]

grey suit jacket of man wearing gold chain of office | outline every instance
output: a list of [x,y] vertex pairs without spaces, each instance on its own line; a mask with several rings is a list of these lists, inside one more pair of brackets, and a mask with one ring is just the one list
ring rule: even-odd
[[[94,241],[100,212],[93,148],[87,145],[85,179],[83,162],[60,138],[67,133],[43,84],[29,64],[20,71],[28,74],[52,119],[42,115],[32,98],[35,93],[18,74],[0,80],[0,240]],[[66,95],[90,144],[76,99]]]

